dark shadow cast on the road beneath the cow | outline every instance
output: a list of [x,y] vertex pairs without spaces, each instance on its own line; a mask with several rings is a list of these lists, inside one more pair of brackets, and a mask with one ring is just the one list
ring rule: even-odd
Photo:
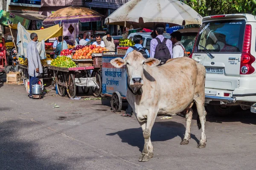
[[[151,142],[167,141],[177,136],[180,137],[181,141],[184,137],[185,130],[186,128],[181,123],[172,121],[155,122],[151,130]],[[144,138],[141,127],[125,129],[115,133],[108,133],[106,135],[118,135],[120,139],[122,139],[122,142],[138,147],[140,152],[143,150]],[[191,134],[191,138],[199,143],[199,140],[195,137],[195,135]]]

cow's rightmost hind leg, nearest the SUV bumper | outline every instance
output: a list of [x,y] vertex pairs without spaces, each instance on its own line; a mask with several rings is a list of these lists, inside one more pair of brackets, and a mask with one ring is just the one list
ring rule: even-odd
[[203,100],[198,101],[198,99],[197,100],[195,99],[198,116],[199,116],[201,127],[202,127],[201,139],[198,144],[198,148],[204,148],[206,146],[205,122],[206,122],[206,114],[207,113],[204,109],[204,101]]

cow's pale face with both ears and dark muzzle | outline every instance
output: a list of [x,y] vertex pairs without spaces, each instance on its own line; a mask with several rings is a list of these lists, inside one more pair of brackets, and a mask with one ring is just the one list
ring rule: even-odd
[[143,70],[145,65],[154,67],[159,65],[159,63],[159,60],[155,58],[145,59],[140,52],[135,50],[129,53],[125,59],[115,58],[111,60],[111,64],[116,68],[126,65],[130,85],[133,87],[141,87],[143,85]]

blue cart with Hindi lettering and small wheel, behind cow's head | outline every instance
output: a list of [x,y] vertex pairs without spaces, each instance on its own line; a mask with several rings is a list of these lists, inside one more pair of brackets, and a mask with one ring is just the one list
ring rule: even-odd
[[116,57],[123,58],[124,55],[102,55],[102,94],[111,97],[112,110],[118,113],[122,108],[122,99],[126,99],[127,74],[125,66],[115,68],[111,65],[111,59]]

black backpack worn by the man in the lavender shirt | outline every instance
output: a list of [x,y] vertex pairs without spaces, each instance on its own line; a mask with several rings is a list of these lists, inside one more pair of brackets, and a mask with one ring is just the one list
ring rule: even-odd
[[163,65],[166,63],[168,59],[171,58],[171,54],[169,51],[169,48],[166,46],[166,41],[168,40],[167,38],[163,39],[163,42],[159,38],[156,38],[158,44],[155,50],[154,58],[160,60],[160,65]]

